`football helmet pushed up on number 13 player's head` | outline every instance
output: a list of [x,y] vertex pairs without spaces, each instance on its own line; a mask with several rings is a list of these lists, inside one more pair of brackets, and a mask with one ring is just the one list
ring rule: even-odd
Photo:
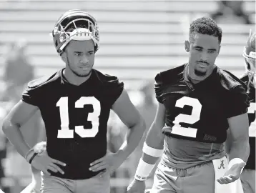
[[61,54],[71,40],[94,41],[95,52],[99,49],[99,29],[96,19],[85,11],[72,9],[56,21],[51,32],[56,51]]

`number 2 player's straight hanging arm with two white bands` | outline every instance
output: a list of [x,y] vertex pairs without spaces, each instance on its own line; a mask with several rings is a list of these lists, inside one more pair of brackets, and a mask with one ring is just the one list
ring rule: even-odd
[[163,104],[158,103],[157,114],[152,122],[149,132],[147,133],[144,142],[142,159],[139,161],[135,179],[127,187],[127,192],[144,192],[145,180],[152,171],[157,159],[162,156],[164,146],[164,134],[162,128],[164,127],[164,114],[165,107]]

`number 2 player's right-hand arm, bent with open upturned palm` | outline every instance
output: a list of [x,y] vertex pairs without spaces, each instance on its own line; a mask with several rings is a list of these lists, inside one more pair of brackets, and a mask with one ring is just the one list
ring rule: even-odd
[[247,113],[227,119],[230,126],[230,169],[217,179],[220,184],[235,182],[240,177],[250,154],[249,121]]

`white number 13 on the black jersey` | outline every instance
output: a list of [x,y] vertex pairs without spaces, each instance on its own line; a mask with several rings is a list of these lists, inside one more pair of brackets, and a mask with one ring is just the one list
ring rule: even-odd
[[59,107],[61,117],[61,130],[58,130],[58,138],[73,138],[74,132],[80,137],[95,137],[99,132],[99,114],[101,111],[100,102],[95,97],[81,97],[75,103],[76,108],[84,108],[85,104],[92,104],[94,112],[88,114],[88,121],[92,122],[92,129],[84,129],[83,125],[75,126],[74,130],[69,129],[69,101],[68,97],[61,97],[56,103]]

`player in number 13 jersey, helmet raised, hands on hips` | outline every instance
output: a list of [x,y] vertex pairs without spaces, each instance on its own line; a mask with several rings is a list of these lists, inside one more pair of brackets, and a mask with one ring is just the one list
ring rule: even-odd
[[[90,14],[67,11],[56,22],[52,36],[66,68],[29,83],[21,101],[4,119],[4,133],[21,156],[42,171],[41,192],[107,193],[109,172],[137,147],[144,121],[124,84],[116,76],[92,69],[99,31]],[[46,127],[46,152],[41,154],[19,132],[36,109]],[[117,153],[107,152],[110,109],[129,127]]]

